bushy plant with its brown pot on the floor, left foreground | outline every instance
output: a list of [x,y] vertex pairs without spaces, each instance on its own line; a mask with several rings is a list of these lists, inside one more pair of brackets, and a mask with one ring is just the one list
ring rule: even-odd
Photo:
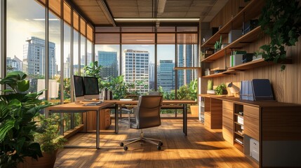
[[40,132],[34,134],[34,141],[40,144],[43,157],[32,160],[31,167],[53,167],[58,149],[67,141],[58,134],[61,119],[60,116],[53,114],[49,118],[40,115],[38,120]]

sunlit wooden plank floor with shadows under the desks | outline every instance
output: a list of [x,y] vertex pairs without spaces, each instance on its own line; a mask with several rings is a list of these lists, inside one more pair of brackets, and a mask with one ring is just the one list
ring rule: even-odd
[[[64,148],[55,167],[258,167],[253,160],[221,138],[221,130],[207,130],[199,120],[188,120],[188,136],[182,133],[182,120],[162,120],[162,125],[144,130],[145,137],[161,139],[162,150],[140,143],[123,151],[119,142],[139,136],[139,130],[119,127],[119,134],[100,134],[99,150],[95,134],[76,134],[69,144],[91,148]],[[112,127],[113,130],[114,127]]]

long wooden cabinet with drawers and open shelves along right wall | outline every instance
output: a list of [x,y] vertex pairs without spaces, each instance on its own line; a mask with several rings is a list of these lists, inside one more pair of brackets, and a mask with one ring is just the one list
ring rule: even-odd
[[[210,94],[200,96],[210,102],[204,107],[207,110],[205,124],[213,125],[213,120],[222,120],[223,139],[246,156],[253,153],[254,146],[250,143],[255,141],[257,153],[253,155],[257,154],[259,160],[250,158],[260,167],[301,167],[301,160],[295,160],[301,148],[300,104],[252,102]],[[222,114],[215,116],[212,111],[222,111]],[[206,116],[210,120],[206,121]]]

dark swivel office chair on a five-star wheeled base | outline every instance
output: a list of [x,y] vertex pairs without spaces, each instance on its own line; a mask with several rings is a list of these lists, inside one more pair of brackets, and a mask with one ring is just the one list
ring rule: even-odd
[[[120,146],[123,146],[124,151],[128,150],[128,145],[138,141],[145,141],[157,146],[161,150],[163,143],[159,139],[149,139],[143,137],[142,129],[149,127],[158,127],[161,125],[160,109],[162,106],[163,97],[159,95],[140,96],[136,110],[136,118],[131,122],[130,127],[141,130],[140,137],[134,139],[126,139],[121,141]],[[123,142],[128,142],[123,144]]]

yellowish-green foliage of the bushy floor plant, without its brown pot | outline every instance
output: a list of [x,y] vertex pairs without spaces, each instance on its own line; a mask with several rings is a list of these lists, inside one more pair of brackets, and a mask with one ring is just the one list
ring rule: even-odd
[[59,132],[60,116],[51,115],[49,118],[39,116],[40,133],[34,134],[34,141],[41,145],[41,151],[51,153],[62,148],[67,139],[62,138]]

